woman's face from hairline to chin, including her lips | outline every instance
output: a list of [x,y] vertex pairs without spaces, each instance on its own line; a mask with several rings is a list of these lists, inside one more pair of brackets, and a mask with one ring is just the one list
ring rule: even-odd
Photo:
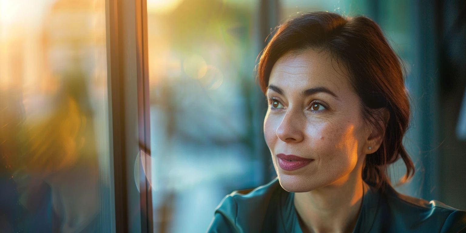
[[362,167],[369,134],[347,74],[327,53],[314,51],[288,53],[275,63],[264,134],[285,190],[340,184]]

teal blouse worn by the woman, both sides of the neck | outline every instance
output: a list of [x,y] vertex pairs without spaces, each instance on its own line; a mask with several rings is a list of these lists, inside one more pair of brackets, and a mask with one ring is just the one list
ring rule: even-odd
[[[355,233],[466,233],[465,211],[405,196],[392,188],[381,193],[363,184],[367,192]],[[252,191],[233,192],[215,210],[208,233],[302,233],[294,194],[285,191],[276,178]]]

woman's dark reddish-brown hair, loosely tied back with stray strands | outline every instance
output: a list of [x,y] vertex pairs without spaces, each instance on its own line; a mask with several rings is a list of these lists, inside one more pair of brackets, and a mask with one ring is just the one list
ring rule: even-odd
[[402,144],[410,119],[408,93],[404,87],[402,65],[387,43],[380,27],[364,16],[343,18],[330,12],[303,14],[277,28],[260,56],[258,81],[265,93],[272,67],[288,52],[313,49],[329,53],[349,71],[349,81],[361,103],[361,114],[369,125],[383,132],[377,110],[390,111],[380,148],[366,156],[363,179],[377,188],[390,185],[387,166],[402,158],[406,181],[414,165]]

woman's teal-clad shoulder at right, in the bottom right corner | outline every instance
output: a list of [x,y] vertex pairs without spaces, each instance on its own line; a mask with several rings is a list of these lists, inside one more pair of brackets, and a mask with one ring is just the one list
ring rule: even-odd
[[400,194],[394,190],[386,195],[387,206],[396,225],[419,232],[466,232],[466,212],[442,202],[427,201]]

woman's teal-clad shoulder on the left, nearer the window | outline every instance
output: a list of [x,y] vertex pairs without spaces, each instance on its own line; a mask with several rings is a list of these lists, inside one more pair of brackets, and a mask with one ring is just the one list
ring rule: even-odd
[[278,179],[255,189],[240,190],[226,195],[215,209],[209,233],[246,232],[260,229],[271,199],[284,191]]

